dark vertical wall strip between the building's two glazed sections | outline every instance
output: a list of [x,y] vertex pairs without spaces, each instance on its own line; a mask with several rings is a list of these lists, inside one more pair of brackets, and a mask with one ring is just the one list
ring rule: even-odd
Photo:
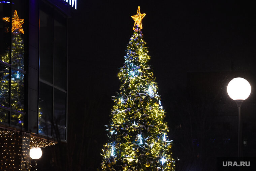
[[29,0],[29,51],[28,51],[28,131],[38,133],[38,74],[39,74],[39,46],[38,46],[38,0]]

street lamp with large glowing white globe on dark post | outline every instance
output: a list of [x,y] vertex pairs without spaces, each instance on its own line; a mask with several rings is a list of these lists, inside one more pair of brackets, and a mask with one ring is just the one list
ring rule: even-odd
[[228,95],[237,104],[238,110],[238,157],[243,157],[242,151],[242,121],[241,121],[241,106],[245,99],[251,94],[250,83],[244,78],[234,78],[228,83]]

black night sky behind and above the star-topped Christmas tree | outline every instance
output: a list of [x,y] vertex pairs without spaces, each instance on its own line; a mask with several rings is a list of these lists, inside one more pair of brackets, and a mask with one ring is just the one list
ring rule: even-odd
[[146,13],[142,32],[162,104],[170,115],[171,94],[185,90],[188,72],[249,70],[256,74],[253,4],[77,0],[68,31],[68,113],[69,121],[70,117],[79,120],[85,115],[93,123],[87,123],[86,130],[87,138],[95,145],[96,164],[106,141],[104,125],[113,105],[111,96],[119,90],[118,68],[123,66],[126,44],[133,33],[131,15],[136,14],[138,6],[141,13]]

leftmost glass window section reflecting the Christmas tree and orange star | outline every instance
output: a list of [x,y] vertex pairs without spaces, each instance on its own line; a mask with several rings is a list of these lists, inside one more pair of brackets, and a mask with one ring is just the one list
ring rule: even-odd
[[25,115],[27,5],[26,0],[0,3],[0,122],[21,127]]

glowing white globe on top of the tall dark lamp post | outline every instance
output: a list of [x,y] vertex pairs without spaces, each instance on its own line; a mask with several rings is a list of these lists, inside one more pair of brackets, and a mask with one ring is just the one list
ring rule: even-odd
[[227,92],[233,100],[245,100],[251,94],[251,85],[244,78],[234,78],[228,83]]

